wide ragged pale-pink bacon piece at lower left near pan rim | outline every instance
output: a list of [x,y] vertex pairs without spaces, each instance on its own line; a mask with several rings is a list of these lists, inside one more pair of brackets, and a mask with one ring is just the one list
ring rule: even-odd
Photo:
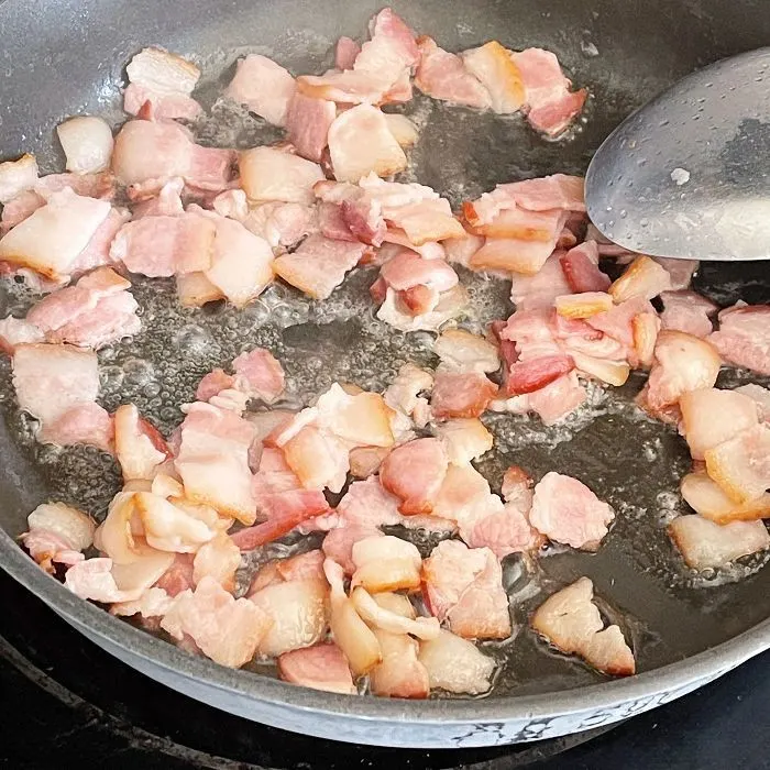
[[175,639],[189,635],[204,654],[221,666],[249,662],[272,625],[270,617],[248,598],[235,600],[212,578],[195,592],[178,594],[161,622]]

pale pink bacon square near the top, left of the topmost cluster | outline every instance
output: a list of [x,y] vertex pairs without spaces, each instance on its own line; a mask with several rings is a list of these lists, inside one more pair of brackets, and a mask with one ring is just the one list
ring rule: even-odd
[[238,63],[224,96],[275,125],[286,125],[294,92],[294,78],[284,67],[266,56],[249,54]]

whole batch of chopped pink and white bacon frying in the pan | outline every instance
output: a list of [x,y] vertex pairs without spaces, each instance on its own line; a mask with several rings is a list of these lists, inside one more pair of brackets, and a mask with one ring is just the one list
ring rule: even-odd
[[[503,560],[535,571],[549,542],[594,552],[616,514],[558,468],[531,479],[512,466],[493,488],[474,464],[494,451],[481,418],[556,425],[588,382],[620,386],[631,370],[649,373],[638,407],[693,457],[681,492],[694,513],[669,525],[684,563],[718,569],[770,547],[770,393],[715,387],[723,365],[770,374],[770,307],[719,309],[689,288],[696,263],[608,244],[586,221],[581,177],[512,180],[459,211],[394,178],[419,132],[383,108],[414,88],[520,111],[549,138],[585,89],[550,52],[490,41],[451,53],[389,9],[363,43],[340,38],[336,64],[295,77],[241,59],[224,98],[286,141],[234,151],[197,144],[185,124],[204,114],[196,65],[145,48],[128,66],[133,119],[114,138],[96,118],[61,127],[70,173],[40,176],[30,155],[0,164],[0,266],[40,294],[25,318],[0,320],[19,406],[40,442],[97,447],[123,477],[98,526],[57,501],[32,512],[30,556],[222,666],[275,661],[286,681],[336,693],[484,694],[501,660],[484,642],[499,650],[517,630]],[[614,280],[607,260],[625,265]],[[458,265],[510,280],[515,309],[485,336],[459,326],[470,299]],[[280,361],[254,346],[200,381],[170,435],[132,404],[99,404],[96,351],[142,328],[134,276],[173,277],[198,312],[245,308],[274,282],[322,301],[364,266],[376,317],[430,332],[433,367],[405,363],[382,393],[334,382],[289,408]],[[440,542],[420,552],[383,531],[394,525]],[[310,534],[320,546],[271,550]],[[246,562],[258,569],[244,585]],[[590,578],[549,593],[519,634],[605,674],[635,672],[632,640],[604,622]]]

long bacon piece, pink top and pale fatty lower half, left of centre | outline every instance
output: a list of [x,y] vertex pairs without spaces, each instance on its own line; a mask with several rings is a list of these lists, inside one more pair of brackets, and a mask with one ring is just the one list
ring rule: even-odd
[[186,495],[250,525],[256,517],[249,450],[254,428],[227,409],[196,403],[187,407],[175,468]]

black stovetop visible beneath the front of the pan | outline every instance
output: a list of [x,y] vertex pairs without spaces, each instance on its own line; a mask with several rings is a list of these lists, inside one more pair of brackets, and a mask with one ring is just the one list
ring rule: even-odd
[[0,765],[337,770],[762,770],[770,654],[612,729],[520,747],[425,751],[336,744],[191,701],[95,647],[0,570]]

